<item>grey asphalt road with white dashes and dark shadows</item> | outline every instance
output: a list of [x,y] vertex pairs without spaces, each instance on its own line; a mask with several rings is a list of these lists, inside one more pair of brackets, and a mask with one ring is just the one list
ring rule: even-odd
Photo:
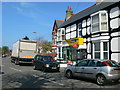
[[2,59],[2,88],[116,88],[120,83],[110,83],[99,86],[92,80],[80,78],[67,79],[64,77],[64,68],[60,72],[42,72],[33,70],[32,65],[15,65],[10,57]]

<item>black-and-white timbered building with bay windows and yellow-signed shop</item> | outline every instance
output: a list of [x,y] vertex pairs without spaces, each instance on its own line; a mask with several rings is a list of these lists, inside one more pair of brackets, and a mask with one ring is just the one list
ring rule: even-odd
[[60,25],[57,29],[58,58],[110,59],[120,62],[120,1],[103,1],[71,15]]

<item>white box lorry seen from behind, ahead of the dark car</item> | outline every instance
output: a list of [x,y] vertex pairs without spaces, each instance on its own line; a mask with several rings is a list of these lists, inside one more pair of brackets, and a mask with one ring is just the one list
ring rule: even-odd
[[21,63],[33,63],[37,54],[37,42],[35,40],[18,40],[13,44],[11,62],[16,65]]

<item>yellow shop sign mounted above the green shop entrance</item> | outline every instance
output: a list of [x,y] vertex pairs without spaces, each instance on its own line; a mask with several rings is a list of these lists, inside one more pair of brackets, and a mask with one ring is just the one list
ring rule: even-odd
[[67,42],[69,44],[69,46],[72,46],[73,44],[83,45],[84,39],[83,38],[72,38],[69,40],[65,40],[63,42]]

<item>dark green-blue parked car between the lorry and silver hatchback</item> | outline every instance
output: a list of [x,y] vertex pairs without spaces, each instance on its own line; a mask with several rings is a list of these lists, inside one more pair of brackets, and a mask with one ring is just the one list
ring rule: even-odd
[[52,56],[49,55],[36,55],[33,61],[34,69],[40,69],[42,71],[59,71],[60,65]]

